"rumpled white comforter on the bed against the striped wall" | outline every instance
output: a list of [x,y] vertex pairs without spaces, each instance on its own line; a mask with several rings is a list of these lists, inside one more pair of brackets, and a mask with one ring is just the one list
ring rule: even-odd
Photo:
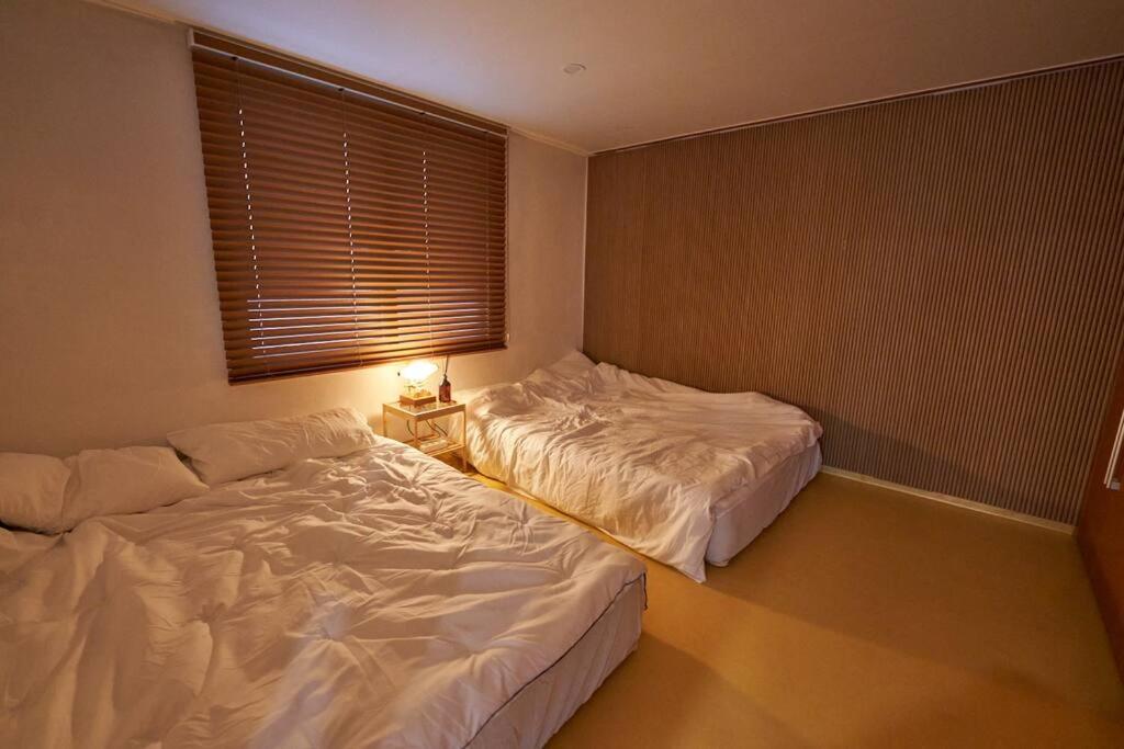
[[761,393],[706,393],[579,354],[469,404],[481,473],[699,582],[714,503],[821,433]]

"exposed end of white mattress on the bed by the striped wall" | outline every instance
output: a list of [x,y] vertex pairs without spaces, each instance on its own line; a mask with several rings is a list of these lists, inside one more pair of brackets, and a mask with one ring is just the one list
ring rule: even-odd
[[800,493],[817,473],[819,445],[786,458],[761,479],[746,484],[714,504],[714,532],[706,547],[706,560],[725,567],[750,545]]

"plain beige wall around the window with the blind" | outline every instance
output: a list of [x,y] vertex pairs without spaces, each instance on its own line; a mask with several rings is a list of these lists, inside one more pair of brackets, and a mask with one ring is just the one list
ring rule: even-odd
[[[181,28],[0,3],[0,450],[69,454],[217,420],[395,396],[396,367],[230,386]],[[586,159],[513,136],[506,351],[454,390],[581,344]]]

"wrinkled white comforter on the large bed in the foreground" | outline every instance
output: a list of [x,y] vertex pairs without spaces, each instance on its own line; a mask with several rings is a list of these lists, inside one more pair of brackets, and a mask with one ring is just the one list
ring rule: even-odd
[[0,530],[0,747],[461,747],[642,573],[389,441]]

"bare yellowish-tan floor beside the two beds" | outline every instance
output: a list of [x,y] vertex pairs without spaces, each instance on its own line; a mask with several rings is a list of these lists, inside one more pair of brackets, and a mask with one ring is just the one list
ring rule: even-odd
[[1124,747],[1069,536],[821,474],[706,584],[647,566],[638,649],[551,747]]

